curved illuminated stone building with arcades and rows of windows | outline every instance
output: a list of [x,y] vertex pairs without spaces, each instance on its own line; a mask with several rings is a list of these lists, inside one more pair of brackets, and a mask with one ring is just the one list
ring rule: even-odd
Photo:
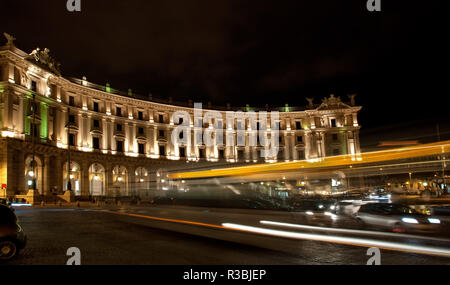
[[[354,96],[307,107],[244,108],[204,106],[219,111],[279,111],[276,157],[261,159],[261,146],[177,146],[171,142],[175,111],[194,116],[192,102],[119,92],[109,84],[63,77],[49,50],[28,54],[14,38],[0,47],[0,196],[62,194],[71,182],[77,196],[130,196],[150,187],[158,171],[264,161],[314,159],[359,153]],[[206,107],[206,108],[205,108]],[[220,122],[235,134],[248,122]],[[191,124],[192,129],[194,125]],[[208,128],[204,124],[196,127]],[[193,137],[193,136],[192,136]],[[239,138],[236,138],[237,140]],[[248,142],[247,138],[244,138]],[[70,148],[70,152],[69,152]],[[70,167],[68,162],[70,161]]]

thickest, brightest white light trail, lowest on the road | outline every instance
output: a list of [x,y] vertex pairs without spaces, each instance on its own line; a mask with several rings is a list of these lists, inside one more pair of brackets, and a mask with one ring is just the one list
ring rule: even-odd
[[272,229],[245,226],[245,225],[239,225],[239,224],[231,224],[231,223],[223,223],[222,226],[224,226],[226,228],[235,229],[235,230],[242,230],[242,231],[246,231],[246,232],[275,236],[275,237],[331,242],[331,243],[351,245],[351,246],[361,246],[361,247],[377,247],[380,249],[393,250],[393,251],[403,251],[403,252],[409,252],[409,253],[419,253],[419,254],[426,254],[426,255],[438,255],[438,256],[450,257],[450,250],[446,249],[446,248],[437,248],[437,247],[420,246],[420,245],[407,245],[407,244],[396,243],[396,242],[378,241],[378,240],[370,240],[370,239],[362,239],[362,238],[350,238],[350,237],[340,237],[340,236],[287,232],[287,231],[272,230]]

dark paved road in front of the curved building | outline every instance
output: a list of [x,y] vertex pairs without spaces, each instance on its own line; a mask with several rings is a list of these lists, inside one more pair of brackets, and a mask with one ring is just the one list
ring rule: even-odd
[[[286,212],[135,206],[35,207],[20,208],[16,213],[29,242],[7,264],[64,265],[70,247],[80,249],[83,265],[364,265],[369,258],[367,247],[267,236],[221,226],[222,223],[261,226],[261,219],[305,222]],[[401,242],[426,243],[409,238]],[[381,262],[450,264],[450,258],[382,250]]]

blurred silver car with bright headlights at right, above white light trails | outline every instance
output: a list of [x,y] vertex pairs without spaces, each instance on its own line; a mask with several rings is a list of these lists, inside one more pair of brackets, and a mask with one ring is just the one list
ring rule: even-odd
[[434,232],[441,223],[438,218],[420,214],[407,205],[392,203],[361,205],[355,218],[363,228],[379,227],[394,232]]

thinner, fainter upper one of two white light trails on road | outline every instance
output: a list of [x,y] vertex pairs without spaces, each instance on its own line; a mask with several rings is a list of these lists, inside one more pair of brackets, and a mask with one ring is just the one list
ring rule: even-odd
[[396,237],[396,238],[411,238],[411,239],[424,239],[424,240],[450,242],[450,239],[418,236],[418,235],[411,235],[411,234],[363,231],[363,230],[352,230],[352,229],[344,229],[344,228],[316,227],[316,226],[281,223],[281,222],[273,222],[273,221],[260,221],[260,223],[263,225],[272,225],[272,226],[297,228],[297,229],[305,229],[305,230],[317,230],[317,231],[328,231],[328,232],[336,232],[336,233],[360,234],[360,235],[371,235],[371,236],[387,236],[387,237]]

